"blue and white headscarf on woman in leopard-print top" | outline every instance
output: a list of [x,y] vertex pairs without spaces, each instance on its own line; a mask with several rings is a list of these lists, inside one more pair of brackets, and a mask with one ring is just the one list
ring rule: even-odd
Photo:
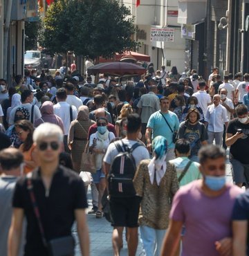
[[[165,175],[167,169],[166,153],[167,153],[167,140],[163,136],[156,136],[152,142],[152,149],[154,152],[154,158],[151,159],[148,170],[149,180],[151,184],[154,183],[154,177],[156,176],[157,185],[160,184],[161,179]],[[156,172],[156,174],[155,174]]]

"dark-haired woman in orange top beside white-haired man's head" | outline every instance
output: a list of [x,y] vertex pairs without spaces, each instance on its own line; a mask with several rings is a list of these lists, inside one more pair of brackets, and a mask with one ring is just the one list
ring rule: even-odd
[[28,120],[19,120],[15,123],[15,130],[19,140],[23,142],[19,150],[24,155],[24,174],[32,172],[37,167],[35,145],[33,145],[33,124]]

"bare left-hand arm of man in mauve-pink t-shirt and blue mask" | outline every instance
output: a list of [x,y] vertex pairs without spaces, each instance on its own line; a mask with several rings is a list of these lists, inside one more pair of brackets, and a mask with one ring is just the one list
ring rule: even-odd
[[182,221],[170,219],[169,228],[166,232],[160,256],[174,256],[181,237]]

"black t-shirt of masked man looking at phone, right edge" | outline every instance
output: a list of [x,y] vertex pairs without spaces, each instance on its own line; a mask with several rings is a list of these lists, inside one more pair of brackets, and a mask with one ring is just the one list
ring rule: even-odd
[[249,152],[249,124],[244,125],[239,122],[238,118],[234,118],[228,123],[227,133],[234,135],[237,133],[237,129],[242,129],[244,136],[231,145],[230,153],[234,159],[248,165],[249,157],[247,152]]

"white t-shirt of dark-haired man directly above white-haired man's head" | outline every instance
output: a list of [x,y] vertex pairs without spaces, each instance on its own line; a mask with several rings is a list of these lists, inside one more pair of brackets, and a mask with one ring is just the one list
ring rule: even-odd
[[[70,105],[65,102],[58,102],[54,105],[54,114],[62,118],[63,127],[64,127],[64,135],[68,135],[69,128],[71,125],[70,120]],[[73,120],[77,118],[77,109],[75,106],[72,106],[72,112],[73,112]]]

